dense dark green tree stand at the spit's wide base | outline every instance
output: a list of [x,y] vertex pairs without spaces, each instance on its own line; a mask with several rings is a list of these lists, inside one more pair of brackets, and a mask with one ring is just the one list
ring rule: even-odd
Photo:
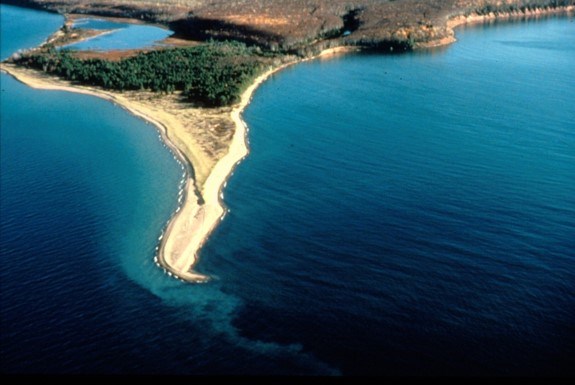
[[139,53],[121,61],[79,59],[73,51],[49,48],[22,55],[18,64],[81,84],[118,91],[182,91],[209,107],[237,102],[262,67],[258,50],[237,42]]

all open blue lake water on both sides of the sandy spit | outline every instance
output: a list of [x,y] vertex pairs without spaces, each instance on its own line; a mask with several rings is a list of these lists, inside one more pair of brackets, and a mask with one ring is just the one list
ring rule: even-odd
[[[1,7],[23,46],[62,22]],[[2,75],[2,372],[575,374],[573,21],[458,36],[261,86],[206,285],[152,262],[182,176],[155,130]]]

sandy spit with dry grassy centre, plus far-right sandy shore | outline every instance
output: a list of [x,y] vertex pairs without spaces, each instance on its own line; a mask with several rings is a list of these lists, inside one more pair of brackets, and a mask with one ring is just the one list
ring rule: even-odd
[[[535,10],[531,12],[532,14],[457,16],[450,18],[447,26],[453,29],[464,24],[494,19],[531,17],[574,10],[575,7],[568,6],[558,10]],[[454,41],[455,38],[449,37],[435,42],[432,46]],[[198,252],[227,212],[222,199],[222,188],[234,168],[249,153],[246,143],[247,126],[241,114],[249,105],[254,91],[272,74],[290,65],[359,50],[358,47],[331,48],[309,59],[294,60],[270,68],[255,79],[242,94],[241,101],[231,111],[229,108],[186,107],[177,95],[158,98],[157,95],[150,93],[119,93],[80,86],[39,71],[7,63],[1,63],[0,70],[33,88],[76,92],[109,100],[152,123],[158,129],[163,141],[184,166],[185,184],[180,193],[182,203],[159,237],[158,254],[155,260],[168,275],[197,283],[209,280],[207,275],[194,270],[198,261]],[[219,130],[222,126],[228,129]],[[233,129],[230,129],[232,127]],[[178,198],[175,197],[175,199]]]

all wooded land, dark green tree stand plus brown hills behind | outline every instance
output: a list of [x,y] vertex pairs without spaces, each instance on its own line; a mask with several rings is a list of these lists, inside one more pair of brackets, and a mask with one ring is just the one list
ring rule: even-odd
[[[161,21],[177,36],[204,43],[141,52],[120,61],[82,59],[72,51],[52,46],[19,55],[13,58],[16,64],[105,89],[179,91],[189,102],[219,107],[236,103],[247,85],[274,57],[310,56],[341,45],[407,51],[452,36],[446,21],[453,16],[566,7],[575,4],[575,0],[162,0],[155,5],[131,0],[18,0],[18,3],[62,13],[102,13]],[[96,5],[103,7],[94,9]]]

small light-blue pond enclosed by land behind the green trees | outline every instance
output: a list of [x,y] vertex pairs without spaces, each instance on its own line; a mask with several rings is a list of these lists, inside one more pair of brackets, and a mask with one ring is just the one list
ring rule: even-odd
[[160,44],[161,40],[172,34],[170,30],[153,25],[117,23],[102,19],[79,19],[74,23],[74,27],[112,30],[110,33],[66,46],[66,48],[76,50],[107,51],[145,48]]

